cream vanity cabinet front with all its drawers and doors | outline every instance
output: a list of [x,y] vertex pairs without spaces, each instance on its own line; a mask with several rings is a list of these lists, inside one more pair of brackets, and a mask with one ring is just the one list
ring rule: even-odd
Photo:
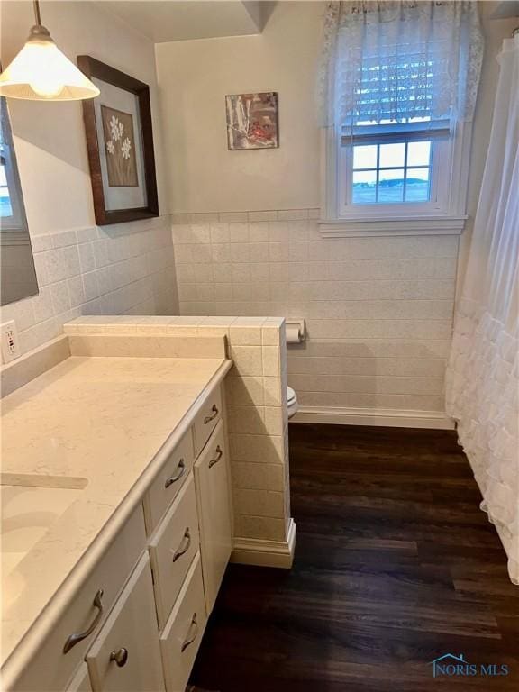
[[214,387],[8,692],[184,692],[231,556],[224,423]]

